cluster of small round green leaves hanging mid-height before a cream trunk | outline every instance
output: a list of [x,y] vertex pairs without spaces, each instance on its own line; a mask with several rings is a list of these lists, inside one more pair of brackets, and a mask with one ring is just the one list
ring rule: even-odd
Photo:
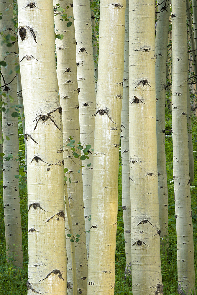
[[[89,155],[89,153],[91,153],[90,152],[91,145],[85,145],[85,148],[84,148],[84,145],[82,145],[81,142],[78,142],[77,145],[75,146],[74,145],[75,140],[71,136],[69,137],[69,139],[66,142],[67,142],[67,145],[66,145],[67,146],[67,151],[68,151],[69,155],[70,155],[70,152],[68,150],[68,147],[72,151],[73,157],[79,159],[79,163],[80,163],[81,160],[84,161],[86,159],[89,159],[88,155]],[[83,150],[83,155],[81,155],[82,150]],[[91,149],[91,150],[93,151],[93,149]],[[71,157],[71,159],[73,160],[72,157]],[[74,160],[73,160],[73,162],[74,162]],[[78,165],[80,165],[80,164],[78,164]],[[85,167],[85,166],[86,165],[80,166],[79,170],[77,172],[80,173],[81,168]],[[91,166],[91,163],[87,164],[87,167],[90,167],[90,166]],[[64,173],[67,173],[67,172],[69,173],[68,168],[64,168]],[[68,178],[65,176],[64,180],[67,181],[67,179]],[[69,182],[71,182],[70,177],[69,177],[68,180],[69,180]]]

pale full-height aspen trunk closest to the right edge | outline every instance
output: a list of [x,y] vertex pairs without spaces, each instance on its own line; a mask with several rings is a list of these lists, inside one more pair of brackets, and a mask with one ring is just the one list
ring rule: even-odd
[[[172,0],[172,134],[178,295],[195,293],[193,227],[188,166],[186,2]],[[184,292],[183,292],[184,290]]]

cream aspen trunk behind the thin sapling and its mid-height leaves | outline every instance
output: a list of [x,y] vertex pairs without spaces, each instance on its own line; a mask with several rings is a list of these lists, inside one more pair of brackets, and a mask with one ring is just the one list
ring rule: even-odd
[[[56,0],[53,1],[55,10]],[[73,17],[73,4],[70,1],[58,1],[60,6],[66,10],[66,14]],[[78,173],[81,162],[74,158],[72,151],[68,150],[67,143],[72,136],[76,143],[80,141],[79,128],[79,104],[78,93],[81,91],[77,85],[77,65],[76,65],[76,43],[74,24],[66,26],[65,21],[60,21],[60,16],[55,16],[55,29],[58,34],[63,35],[63,39],[56,38],[57,49],[57,74],[60,93],[60,105],[62,107],[63,119],[63,146],[64,146],[64,166],[68,168],[67,176],[70,182],[67,185],[70,214],[72,219],[73,233],[79,234],[81,241],[75,243],[75,258],[77,269],[77,289],[81,289],[82,294],[86,294],[88,261],[86,250],[86,230],[84,222],[83,205],[83,182],[82,173]],[[67,280],[68,293],[73,293],[73,271],[70,250],[70,238],[67,237]],[[72,245],[73,246],[73,245]]]

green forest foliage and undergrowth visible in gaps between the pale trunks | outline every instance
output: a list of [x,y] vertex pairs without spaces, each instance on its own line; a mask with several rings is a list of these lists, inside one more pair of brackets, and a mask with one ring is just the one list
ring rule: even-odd
[[[93,32],[93,42],[97,41],[99,37],[99,1],[92,1],[91,7],[96,17],[96,31]],[[15,20],[17,27],[17,5],[14,5],[16,11]],[[191,1],[192,11],[192,1]],[[156,14],[157,16],[157,14]],[[169,31],[171,31],[171,23],[169,24]],[[168,43],[168,67],[171,68],[171,43]],[[191,50],[190,42],[188,42],[188,50]],[[98,56],[97,56],[98,57]],[[192,57],[190,62],[190,76],[194,75],[192,66]],[[171,76],[168,73],[167,84],[172,83]],[[3,99],[3,97],[2,97]],[[196,164],[197,164],[197,117],[196,117],[196,87],[190,87],[190,100],[192,110],[192,136],[193,136],[193,151],[194,151],[194,167],[195,179],[193,186],[197,183]],[[164,285],[164,294],[177,294],[177,252],[176,252],[176,222],[175,222],[175,202],[174,202],[174,186],[173,186],[173,148],[171,135],[171,91],[166,89],[166,115],[165,115],[165,147],[166,147],[166,165],[167,165],[167,179],[168,179],[168,232],[169,232],[169,248],[161,246],[161,266],[162,266],[162,281]],[[2,104],[1,104],[2,109]],[[22,119],[19,108],[16,106],[15,111],[18,114],[19,126],[19,160],[24,163],[25,160],[25,144],[22,130]],[[1,112],[2,120],[2,112]],[[2,122],[2,121],[1,121]],[[1,124],[2,125],[2,124]],[[22,222],[22,238],[23,238],[23,270],[16,270],[12,263],[7,263],[6,260],[6,245],[5,245],[5,230],[4,230],[4,209],[3,209],[3,192],[2,192],[2,177],[0,182],[0,294],[27,294],[27,270],[28,270],[28,222],[27,222],[27,180],[23,174],[24,167],[21,165],[19,170],[20,181],[20,206],[21,206],[21,222]],[[116,278],[115,278],[115,294],[132,294],[131,277],[125,276],[125,248],[124,248],[124,225],[122,213],[122,183],[121,183],[121,152],[119,153],[119,198],[118,198],[118,222],[117,222],[117,236],[116,236]],[[197,266],[197,188],[191,189],[191,204],[192,204],[192,219],[193,219],[193,237],[194,237],[194,259],[195,266]],[[196,270],[196,267],[195,267]],[[197,273],[196,273],[197,277]],[[197,285],[197,284],[196,284]]]

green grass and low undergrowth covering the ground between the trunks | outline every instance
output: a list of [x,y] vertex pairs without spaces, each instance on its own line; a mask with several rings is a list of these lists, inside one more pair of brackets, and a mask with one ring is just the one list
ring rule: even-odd
[[[166,129],[171,124],[170,114],[167,115]],[[169,127],[171,128],[171,126]],[[175,204],[174,187],[170,183],[173,180],[173,154],[172,138],[166,137],[166,164],[168,178],[168,230],[169,230],[169,250],[168,255],[165,247],[161,247],[162,280],[164,294],[177,294],[177,251],[176,251],[176,223],[175,223]],[[22,147],[20,147],[22,149]],[[197,152],[197,126],[193,125],[193,150]],[[194,153],[195,175],[197,167],[197,153]],[[194,235],[194,258],[195,269],[197,270],[197,176],[195,176],[196,188],[191,191],[193,235]],[[4,210],[2,196],[2,181],[0,183],[0,294],[1,295],[25,295],[27,294],[27,268],[28,268],[28,234],[27,234],[27,191],[20,191],[22,236],[23,236],[23,271],[15,271],[11,264],[6,262],[5,250],[5,229],[4,229]],[[124,278],[125,271],[125,248],[124,248],[124,229],[122,215],[122,186],[121,186],[121,158],[119,163],[119,202],[118,202],[118,230],[116,237],[116,285],[115,294],[132,294],[131,278]],[[197,277],[197,273],[196,273]],[[197,286],[197,282],[196,282]]]

